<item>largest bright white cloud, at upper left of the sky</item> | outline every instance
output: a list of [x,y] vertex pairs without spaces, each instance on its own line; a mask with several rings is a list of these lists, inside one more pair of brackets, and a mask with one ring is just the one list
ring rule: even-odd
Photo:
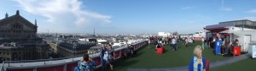
[[31,14],[38,14],[49,23],[72,23],[76,25],[108,24],[111,17],[82,9],[79,0],[15,0],[21,8]]

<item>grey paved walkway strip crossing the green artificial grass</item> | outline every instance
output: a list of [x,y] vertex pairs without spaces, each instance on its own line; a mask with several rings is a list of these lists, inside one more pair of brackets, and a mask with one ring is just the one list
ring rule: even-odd
[[[210,68],[217,68],[220,66],[224,66],[230,63],[236,63],[238,61],[247,59],[249,57],[248,54],[243,54],[237,57],[230,57],[225,60],[216,61],[210,63]],[[188,71],[189,66],[179,67],[179,68],[127,68],[127,71]]]

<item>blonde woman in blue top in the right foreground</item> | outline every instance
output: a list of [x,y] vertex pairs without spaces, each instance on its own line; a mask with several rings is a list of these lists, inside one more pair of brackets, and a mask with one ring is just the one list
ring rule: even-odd
[[192,57],[189,63],[189,71],[206,71],[206,60],[202,57],[201,46],[195,46],[194,57]]

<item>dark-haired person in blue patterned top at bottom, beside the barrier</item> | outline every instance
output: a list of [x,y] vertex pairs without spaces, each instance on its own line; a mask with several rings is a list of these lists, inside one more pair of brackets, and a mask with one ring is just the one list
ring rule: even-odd
[[78,63],[79,71],[94,71],[96,63],[89,57],[88,54],[84,54],[82,61]]

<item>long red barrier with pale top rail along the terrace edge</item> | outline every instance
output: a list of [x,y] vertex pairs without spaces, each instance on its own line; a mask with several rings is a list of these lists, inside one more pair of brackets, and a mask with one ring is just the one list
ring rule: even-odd
[[[134,49],[145,46],[148,44],[148,41],[139,41],[135,44],[132,44]],[[114,49],[115,58],[119,59],[121,53],[125,52],[127,46],[122,46]],[[90,57],[96,62],[96,68],[101,67],[101,59],[99,53],[91,54]],[[3,63],[3,66],[6,68],[1,68],[1,71],[73,71],[73,68],[78,66],[78,62],[83,57],[64,57],[56,59],[43,59],[43,60],[32,60],[32,61],[7,61]],[[4,69],[4,70],[2,70]]]

